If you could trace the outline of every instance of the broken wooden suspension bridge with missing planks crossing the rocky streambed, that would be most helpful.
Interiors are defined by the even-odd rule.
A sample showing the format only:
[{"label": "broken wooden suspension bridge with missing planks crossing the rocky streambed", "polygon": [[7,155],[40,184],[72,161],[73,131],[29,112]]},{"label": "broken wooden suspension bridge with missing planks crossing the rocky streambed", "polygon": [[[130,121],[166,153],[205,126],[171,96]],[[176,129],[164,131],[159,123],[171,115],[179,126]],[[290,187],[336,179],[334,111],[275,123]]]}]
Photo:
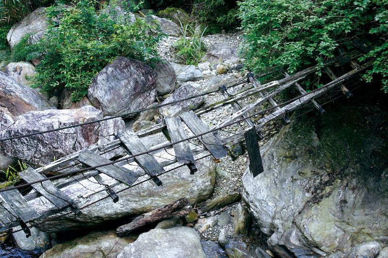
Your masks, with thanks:
[{"label": "broken wooden suspension bridge with missing planks crossing the rocky streambed", "polygon": [[[262,172],[261,160],[258,158],[260,157],[258,140],[263,137],[261,131],[264,125],[278,118],[283,119],[286,123],[290,122],[287,113],[307,103],[311,103],[319,112],[323,113],[323,108],[314,99],[333,88],[340,88],[347,97],[351,96],[352,93],[346,88],[344,82],[372,65],[372,61],[363,64],[356,63],[355,60],[361,55],[358,51],[349,53],[342,51],[339,57],[326,61],[323,70],[331,78],[331,81],[317,90],[306,92],[298,83],[306,76],[315,73],[316,67],[309,67],[293,75],[280,71],[283,78],[262,85],[253,75],[249,75],[248,82],[252,87],[235,95],[230,94],[224,85],[214,86],[225,97],[224,101],[202,107],[195,113],[187,111],[177,117],[165,117],[159,124],[136,133],[129,129],[118,134],[115,140],[104,146],[91,145],[85,150],[60,158],[44,167],[37,169],[30,167],[19,173],[20,177],[31,185],[32,191],[30,193],[23,196],[18,187],[0,190],[0,232],[20,225],[29,236],[31,233],[27,224],[33,226],[53,214],[64,211],[74,212],[75,215],[79,214],[84,208],[81,207],[80,200],[77,196],[65,194],[63,189],[80,180],[94,178],[97,185],[94,189],[90,189],[90,193],[84,194],[82,197],[105,191],[113,202],[117,202],[120,196],[114,191],[114,186],[125,184],[130,187],[142,176],[146,176],[157,185],[162,185],[158,176],[168,172],[164,167],[175,163],[187,166],[190,173],[194,174],[197,170],[194,156],[210,153],[214,159],[220,159],[228,154],[233,155],[231,146],[244,140],[250,159],[251,172],[256,176]],[[337,76],[332,68],[345,64],[349,64],[353,69]],[[300,94],[283,105],[278,105],[273,98],[291,86],[295,87]],[[212,89],[215,89],[214,87]],[[242,106],[242,100],[251,96],[257,96],[257,98],[252,103]],[[258,113],[252,115],[252,112],[265,103],[271,107],[266,110],[266,113],[259,112],[262,116],[254,122],[252,118]],[[221,123],[210,128],[200,119],[201,115],[228,105],[235,112]],[[217,131],[237,122],[245,123],[246,128],[248,128],[243,134],[234,134],[228,137],[220,137],[217,134]],[[194,136],[189,137],[188,130]],[[168,141],[152,148],[146,148],[141,138],[161,131]],[[197,138],[202,146],[191,146],[189,140],[194,138]],[[126,152],[127,156],[118,160],[106,158],[107,153],[113,152],[117,148]],[[158,160],[158,153],[168,149],[173,149],[175,155],[168,160]],[[140,167],[140,172],[124,167],[129,163]],[[50,176],[52,174],[55,176]],[[68,175],[72,176],[67,177]],[[62,178],[62,180],[54,181],[57,178]],[[31,204],[36,198],[42,197],[45,199],[45,207],[37,209]]]}]

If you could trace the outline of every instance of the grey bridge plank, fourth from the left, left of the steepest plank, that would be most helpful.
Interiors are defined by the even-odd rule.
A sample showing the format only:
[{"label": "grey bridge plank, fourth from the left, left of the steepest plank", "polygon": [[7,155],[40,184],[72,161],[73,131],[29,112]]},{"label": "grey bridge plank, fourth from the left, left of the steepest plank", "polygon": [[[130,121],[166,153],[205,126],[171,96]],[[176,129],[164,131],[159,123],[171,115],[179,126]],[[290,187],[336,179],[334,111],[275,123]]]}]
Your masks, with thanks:
[{"label": "grey bridge plank, fourth from the left, left of the steepest plank", "polygon": [[[119,134],[117,137],[120,138],[129,154],[136,155],[148,151],[140,138],[131,129]],[[162,185],[157,175],[165,171],[154,156],[148,153],[136,156],[135,159],[157,185]]]}]

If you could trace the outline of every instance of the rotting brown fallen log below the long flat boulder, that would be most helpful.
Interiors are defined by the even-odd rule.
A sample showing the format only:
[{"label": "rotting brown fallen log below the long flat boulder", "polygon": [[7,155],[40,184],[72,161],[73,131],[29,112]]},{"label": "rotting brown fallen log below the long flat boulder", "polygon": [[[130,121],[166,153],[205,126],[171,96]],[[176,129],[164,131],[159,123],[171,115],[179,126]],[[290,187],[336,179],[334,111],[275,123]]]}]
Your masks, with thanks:
[{"label": "rotting brown fallen log below the long flat boulder", "polygon": [[173,203],[167,204],[166,206],[137,216],[128,224],[118,227],[116,229],[116,234],[117,236],[122,237],[129,234],[131,231],[137,228],[141,228],[147,224],[158,222],[174,216],[185,216],[192,210],[191,206],[188,205],[189,201],[186,198],[180,198]]}]

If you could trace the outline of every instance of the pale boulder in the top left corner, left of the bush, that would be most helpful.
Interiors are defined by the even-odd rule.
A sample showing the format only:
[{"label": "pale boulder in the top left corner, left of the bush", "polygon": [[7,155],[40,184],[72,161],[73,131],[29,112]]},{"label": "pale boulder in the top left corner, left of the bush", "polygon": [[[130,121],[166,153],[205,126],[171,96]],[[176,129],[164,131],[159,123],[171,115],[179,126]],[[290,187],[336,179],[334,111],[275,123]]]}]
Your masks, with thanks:
[{"label": "pale boulder in the top left corner, left of the bush", "polygon": [[12,26],[7,34],[7,41],[12,48],[19,43],[23,37],[45,31],[48,27],[49,23],[46,17],[46,8],[40,7]]}]

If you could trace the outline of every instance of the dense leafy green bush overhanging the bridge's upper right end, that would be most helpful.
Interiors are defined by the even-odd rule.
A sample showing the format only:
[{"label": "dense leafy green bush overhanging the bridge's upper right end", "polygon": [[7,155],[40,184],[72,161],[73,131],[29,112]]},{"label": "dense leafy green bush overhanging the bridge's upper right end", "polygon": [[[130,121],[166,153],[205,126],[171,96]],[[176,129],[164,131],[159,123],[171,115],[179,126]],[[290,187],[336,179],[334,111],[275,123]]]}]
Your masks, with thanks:
[{"label": "dense leafy green bush overhanging the bridge's upper right end", "polygon": [[293,73],[322,65],[339,45],[365,37],[380,45],[366,56],[378,57],[368,78],[381,74],[388,91],[388,0],[245,0],[239,5],[244,54],[253,71],[279,65]]}]

